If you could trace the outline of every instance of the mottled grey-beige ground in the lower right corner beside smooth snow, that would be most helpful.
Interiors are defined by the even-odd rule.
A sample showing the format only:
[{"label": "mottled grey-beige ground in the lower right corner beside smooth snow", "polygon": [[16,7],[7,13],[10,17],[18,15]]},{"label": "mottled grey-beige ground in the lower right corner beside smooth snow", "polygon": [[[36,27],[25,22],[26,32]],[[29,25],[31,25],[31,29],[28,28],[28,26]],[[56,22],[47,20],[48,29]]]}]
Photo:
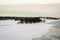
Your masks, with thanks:
[{"label": "mottled grey-beige ground in the lower right corner beside smooth snow", "polygon": [[60,40],[60,20],[54,20],[48,24],[53,25],[52,29],[47,34],[33,38],[33,40]]}]

